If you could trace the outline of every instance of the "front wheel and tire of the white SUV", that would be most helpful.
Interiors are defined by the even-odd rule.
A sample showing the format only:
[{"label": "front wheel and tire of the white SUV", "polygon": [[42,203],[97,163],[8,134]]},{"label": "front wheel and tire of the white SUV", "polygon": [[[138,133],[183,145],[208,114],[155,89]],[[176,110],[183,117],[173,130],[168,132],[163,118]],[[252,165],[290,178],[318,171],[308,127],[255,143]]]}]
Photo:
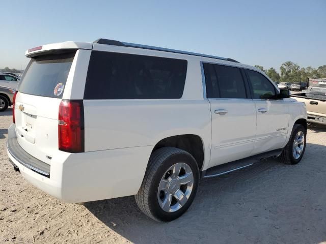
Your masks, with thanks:
[{"label": "front wheel and tire of the white SUV", "polygon": [[[303,145],[301,143],[297,144],[297,147],[299,149],[301,149],[301,154],[298,155],[297,150],[296,150],[296,154],[294,156],[294,143],[295,143],[294,140],[296,139],[298,134],[304,135],[304,138],[301,140],[304,142],[304,144]],[[298,140],[300,140],[300,137],[298,137]],[[283,148],[283,151],[279,157],[279,160],[282,163],[289,164],[289,165],[297,164],[298,162],[300,162],[302,157],[305,154],[306,140],[307,140],[307,131],[306,131],[305,127],[303,127],[302,125],[294,124],[289,142]],[[296,143],[297,143],[297,141],[296,141]]]}]

